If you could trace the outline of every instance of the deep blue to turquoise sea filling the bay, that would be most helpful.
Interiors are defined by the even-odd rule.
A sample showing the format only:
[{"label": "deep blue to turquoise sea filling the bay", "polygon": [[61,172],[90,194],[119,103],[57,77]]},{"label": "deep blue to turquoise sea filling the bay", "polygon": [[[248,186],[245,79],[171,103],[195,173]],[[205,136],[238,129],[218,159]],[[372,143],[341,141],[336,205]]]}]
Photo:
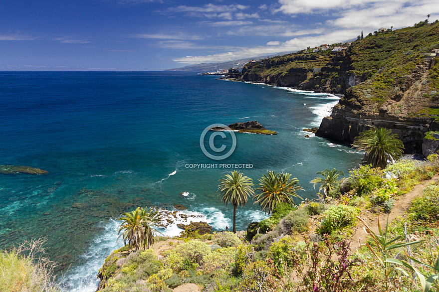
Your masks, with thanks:
[{"label": "deep blue to turquoise sea filling the bay", "polygon": [[[318,127],[337,101],[193,72],[0,72],[0,164],[49,171],[0,174],[0,249],[45,237],[50,258],[69,270],[64,289],[91,292],[104,259],[122,245],[115,232],[122,212],[181,204],[216,230],[230,227],[233,210],[217,188],[233,169],[255,183],[267,170],[289,172],[305,189],[298,194],[315,198],[309,181],[317,171],[336,167],[348,175],[361,160],[349,147],[302,131]],[[203,153],[208,126],[245,121],[278,135],[234,133],[229,157]],[[208,150],[213,133],[203,140]],[[214,144],[228,151],[231,134],[220,133],[226,138]],[[237,210],[237,229],[264,217],[249,201]]]}]

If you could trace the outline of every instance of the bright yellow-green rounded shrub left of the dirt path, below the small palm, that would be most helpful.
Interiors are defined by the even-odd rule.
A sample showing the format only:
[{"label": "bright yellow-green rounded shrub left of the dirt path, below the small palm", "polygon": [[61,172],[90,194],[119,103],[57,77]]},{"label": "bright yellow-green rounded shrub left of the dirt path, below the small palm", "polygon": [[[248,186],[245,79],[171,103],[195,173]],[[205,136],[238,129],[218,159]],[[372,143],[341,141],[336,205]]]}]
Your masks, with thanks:
[{"label": "bright yellow-green rounded shrub left of the dirt path, below the small palm", "polygon": [[329,207],[323,213],[320,233],[331,234],[334,230],[352,225],[356,220],[357,213],[357,209],[351,206],[337,205]]}]

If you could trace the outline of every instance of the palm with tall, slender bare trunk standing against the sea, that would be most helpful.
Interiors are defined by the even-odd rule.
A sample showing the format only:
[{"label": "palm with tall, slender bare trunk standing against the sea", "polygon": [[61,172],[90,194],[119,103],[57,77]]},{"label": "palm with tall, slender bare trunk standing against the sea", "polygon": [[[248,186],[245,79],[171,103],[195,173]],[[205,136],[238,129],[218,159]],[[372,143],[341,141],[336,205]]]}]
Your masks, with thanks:
[{"label": "palm with tall, slender bare trunk standing against the sea", "polygon": [[236,207],[243,207],[248,196],[254,194],[251,178],[242,176],[242,173],[234,170],[231,175],[226,174],[219,180],[218,191],[221,199],[233,206],[233,233],[236,233]]}]

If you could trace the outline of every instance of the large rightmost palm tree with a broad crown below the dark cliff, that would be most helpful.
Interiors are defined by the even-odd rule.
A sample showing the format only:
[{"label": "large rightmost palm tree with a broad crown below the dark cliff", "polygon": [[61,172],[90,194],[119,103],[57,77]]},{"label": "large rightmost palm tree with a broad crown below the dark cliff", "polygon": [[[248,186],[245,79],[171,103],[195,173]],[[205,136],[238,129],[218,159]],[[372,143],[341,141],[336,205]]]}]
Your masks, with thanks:
[{"label": "large rightmost palm tree with a broad crown below the dark cliff", "polygon": [[372,167],[386,168],[387,160],[398,160],[403,155],[404,145],[395,134],[385,128],[363,131],[354,139],[352,148],[364,151],[363,161]]}]

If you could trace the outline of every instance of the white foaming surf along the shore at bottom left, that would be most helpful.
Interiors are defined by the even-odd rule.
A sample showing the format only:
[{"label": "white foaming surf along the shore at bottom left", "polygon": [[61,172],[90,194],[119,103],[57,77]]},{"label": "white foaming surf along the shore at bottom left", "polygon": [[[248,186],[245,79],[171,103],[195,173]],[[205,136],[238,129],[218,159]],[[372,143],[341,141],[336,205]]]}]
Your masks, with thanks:
[{"label": "white foaming surf along the shore at bottom left", "polygon": [[119,222],[114,219],[105,224],[104,232],[93,239],[87,253],[81,256],[84,264],[67,272],[62,281],[62,291],[68,292],[94,292],[98,287],[99,280],[96,279],[99,269],[110,253],[123,246],[122,240],[117,241],[116,230]]}]

